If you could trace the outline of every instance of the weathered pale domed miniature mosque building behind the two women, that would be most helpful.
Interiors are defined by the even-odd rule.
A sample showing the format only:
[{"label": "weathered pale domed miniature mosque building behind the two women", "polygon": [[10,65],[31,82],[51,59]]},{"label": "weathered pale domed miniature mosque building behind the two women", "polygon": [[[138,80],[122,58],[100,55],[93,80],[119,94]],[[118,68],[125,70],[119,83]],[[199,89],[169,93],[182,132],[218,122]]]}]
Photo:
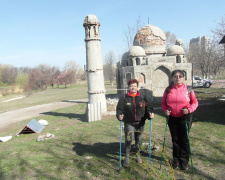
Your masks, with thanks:
[{"label": "weathered pale domed miniature mosque building behind the two women", "polygon": [[133,47],[117,63],[118,94],[125,94],[130,79],[139,81],[140,91],[153,100],[160,100],[165,88],[171,82],[171,72],[181,69],[184,83],[192,86],[192,64],[187,63],[183,42],[176,41],[166,52],[166,36],[153,25],[141,28],[133,42]]}]

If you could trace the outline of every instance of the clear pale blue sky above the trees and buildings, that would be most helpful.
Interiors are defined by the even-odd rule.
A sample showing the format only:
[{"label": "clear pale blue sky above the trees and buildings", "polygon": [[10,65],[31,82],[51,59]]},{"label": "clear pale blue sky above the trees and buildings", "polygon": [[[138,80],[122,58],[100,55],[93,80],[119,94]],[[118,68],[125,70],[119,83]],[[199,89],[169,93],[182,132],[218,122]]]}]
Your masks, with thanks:
[{"label": "clear pale blue sky above the trees and buildings", "polygon": [[0,0],[0,64],[62,68],[66,61],[86,64],[84,18],[101,24],[102,58],[125,52],[124,31],[136,24],[170,31],[184,43],[212,36],[225,17],[225,0]]}]

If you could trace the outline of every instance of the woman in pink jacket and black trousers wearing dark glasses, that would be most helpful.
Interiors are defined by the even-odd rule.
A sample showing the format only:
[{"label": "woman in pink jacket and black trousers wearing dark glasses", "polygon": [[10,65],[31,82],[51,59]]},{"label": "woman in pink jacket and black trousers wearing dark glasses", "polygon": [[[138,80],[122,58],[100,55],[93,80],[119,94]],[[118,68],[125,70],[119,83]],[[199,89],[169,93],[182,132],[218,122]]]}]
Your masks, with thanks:
[{"label": "woman in pink jacket and black trousers wearing dark glasses", "polygon": [[162,110],[168,118],[168,126],[173,143],[174,169],[188,169],[189,147],[185,119],[190,130],[191,113],[198,107],[198,101],[194,91],[188,92],[183,84],[184,73],[181,70],[174,70],[171,74],[172,82],[165,89],[162,98]]}]

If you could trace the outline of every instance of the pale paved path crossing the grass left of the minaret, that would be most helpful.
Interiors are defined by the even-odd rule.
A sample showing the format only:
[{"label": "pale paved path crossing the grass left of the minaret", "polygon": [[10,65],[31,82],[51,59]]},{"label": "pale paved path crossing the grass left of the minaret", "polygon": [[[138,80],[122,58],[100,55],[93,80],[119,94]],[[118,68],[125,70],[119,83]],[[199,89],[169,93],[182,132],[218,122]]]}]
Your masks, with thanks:
[{"label": "pale paved path crossing the grass left of the minaret", "polygon": [[0,133],[2,128],[10,124],[40,116],[41,113],[44,112],[74,106],[77,103],[84,103],[84,102],[88,102],[88,99],[77,99],[77,100],[42,104],[2,113],[0,114]]}]

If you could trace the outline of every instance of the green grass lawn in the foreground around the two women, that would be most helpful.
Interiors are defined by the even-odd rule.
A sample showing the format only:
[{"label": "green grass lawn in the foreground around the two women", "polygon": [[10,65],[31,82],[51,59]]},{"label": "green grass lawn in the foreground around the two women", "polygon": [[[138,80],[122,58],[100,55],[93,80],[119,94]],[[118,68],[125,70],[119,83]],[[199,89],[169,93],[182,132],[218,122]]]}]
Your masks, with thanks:
[{"label": "green grass lawn in the foreground around the two women", "polygon": [[[77,91],[73,89],[72,92]],[[223,92],[224,89],[221,93]],[[200,94],[202,92],[196,93],[197,97]],[[70,99],[76,99],[75,97],[76,93],[74,98]],[[208,97],[210,98],[211,96]],[[88,123],[85,115],[86,104],[79,103],[35,118],[49,122],[40,134],[52,133],[55,138],[37,142],[36,139],[40,134],[15,136],[30,119],[5,130],[1,136],[13,135],[13,138],[0,144],[0,179],[223,179],[224,109],[225,102],[216,102],[212,105],[199,106],[194,113],[197,120],[193,122],[190,132],[194,174],[191,171],[173,171],[165,160],[159,169],[161,151],[152,152],[149,169],[148,150],[141,153],[143,164],[137,164],[135,155],[132,154],[130,168],[118,172],[119,121],[114,115],[107,115],[101,121]],[[149,121],[146,121],[143,143],[149,142],[149,125]],[[156,111],[152,121],[152,143],[159,145],[160,148],[163,144],[164,131],[165,117],[161,111]],[[172,158],[171,148],[168,130],[164,154],[166,160]]]}]

